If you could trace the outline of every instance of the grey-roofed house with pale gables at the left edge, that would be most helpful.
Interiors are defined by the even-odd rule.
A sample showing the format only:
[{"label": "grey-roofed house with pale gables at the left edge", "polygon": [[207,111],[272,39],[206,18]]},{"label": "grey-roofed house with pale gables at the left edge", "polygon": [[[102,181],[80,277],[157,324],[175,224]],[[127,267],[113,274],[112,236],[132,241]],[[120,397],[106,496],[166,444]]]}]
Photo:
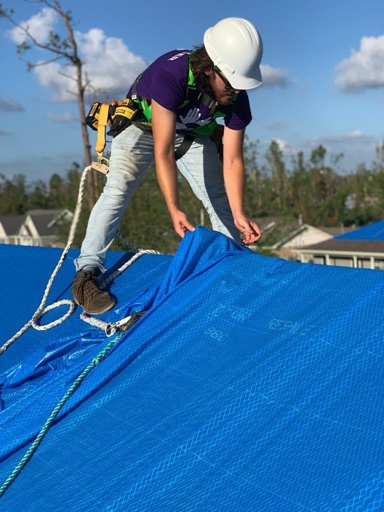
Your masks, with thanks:
[{"label": "grey-roofed house with pale gables at the left edge", "polygon": [[25,215],[2,216],[0,217],[0,243],[55,246],[63,221],[68,222],[72,218],[73,213],[66,208],[29,210]]}]

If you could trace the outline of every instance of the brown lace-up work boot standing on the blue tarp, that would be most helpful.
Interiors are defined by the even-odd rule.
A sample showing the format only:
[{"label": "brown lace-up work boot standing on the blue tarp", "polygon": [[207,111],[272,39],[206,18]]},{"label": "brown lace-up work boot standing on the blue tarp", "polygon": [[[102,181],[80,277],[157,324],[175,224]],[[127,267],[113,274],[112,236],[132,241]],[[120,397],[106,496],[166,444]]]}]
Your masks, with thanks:
[{"label": "brown lace-up work boot standing on the blue tarp", "polygon": [[116,304],[116,300],[108,291],[99,289],[96,271],[97,269],[79,270],[72,283],[73,300],[91,315],[105,313]]}]

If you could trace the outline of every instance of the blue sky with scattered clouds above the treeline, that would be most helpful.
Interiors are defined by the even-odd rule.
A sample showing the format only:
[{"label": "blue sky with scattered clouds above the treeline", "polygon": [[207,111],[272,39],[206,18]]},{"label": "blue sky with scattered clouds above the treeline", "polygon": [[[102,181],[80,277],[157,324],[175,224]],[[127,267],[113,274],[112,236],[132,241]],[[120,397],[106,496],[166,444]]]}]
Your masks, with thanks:
[{"label": "blue sky with scattered clouds above the treeline", "polygon": [[[222,18],[249,19],[264,43],[263,84],[249,93],[253,120],[247,128],[248,136],[260,141],[260,163],[274,138],[288,165],[292,154],[303,150],[309,157],[323,144],[329,162],[332,155],[345,154],[339,171],[350,172],[359,162],[370,165],[375,146],[384,140],[382,0],[148,0],[143,9],[119,0],[61,4],[77,22],[81,56],[93,83],[116,99],[162,53],[201,44],[204,31]],[[5,0],[3,5],[12,6],[18,21],[30,20],[31,30],[42,40],[50,28],[61,31],[52,15],[41,11],[42,4]],[[16,55],[18,36],[11,28],[0,20],[5,70],[0,87],[1,172],[24,173],[30,181],[47,179],[65,172],[73,160],[82,164],[77,105],[67,92],[71,82],[58,74],[71,70],[54,63],[27,72]],[[33,49],[28,58],[36,62],[51,56]]]}]

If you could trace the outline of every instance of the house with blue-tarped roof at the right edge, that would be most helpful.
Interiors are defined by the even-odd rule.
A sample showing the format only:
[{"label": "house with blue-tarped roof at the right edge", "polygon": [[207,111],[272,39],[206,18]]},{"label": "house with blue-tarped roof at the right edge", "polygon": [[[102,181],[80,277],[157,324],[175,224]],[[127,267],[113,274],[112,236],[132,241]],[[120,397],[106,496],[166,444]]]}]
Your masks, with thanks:
[{"label": "house with blue-tarped roof at the right edge", "polygon": [[384,270],[384,220],[303,246],[296,254],[303,263]]}]

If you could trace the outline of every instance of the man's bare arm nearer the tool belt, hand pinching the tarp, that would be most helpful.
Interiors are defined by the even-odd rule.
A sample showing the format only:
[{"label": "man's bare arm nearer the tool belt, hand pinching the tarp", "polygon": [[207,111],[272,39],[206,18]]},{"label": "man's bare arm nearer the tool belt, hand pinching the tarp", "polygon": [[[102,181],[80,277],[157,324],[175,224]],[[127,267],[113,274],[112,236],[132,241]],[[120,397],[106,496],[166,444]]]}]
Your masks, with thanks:
[{"label": "man's bare arm nearer the tool belt, hand pinching the tarp", "polygon": [[180,209],[175,162],[176,113],[152,100],[152,131],[156,174],[175,231],[183,237],[195,228]]}]

